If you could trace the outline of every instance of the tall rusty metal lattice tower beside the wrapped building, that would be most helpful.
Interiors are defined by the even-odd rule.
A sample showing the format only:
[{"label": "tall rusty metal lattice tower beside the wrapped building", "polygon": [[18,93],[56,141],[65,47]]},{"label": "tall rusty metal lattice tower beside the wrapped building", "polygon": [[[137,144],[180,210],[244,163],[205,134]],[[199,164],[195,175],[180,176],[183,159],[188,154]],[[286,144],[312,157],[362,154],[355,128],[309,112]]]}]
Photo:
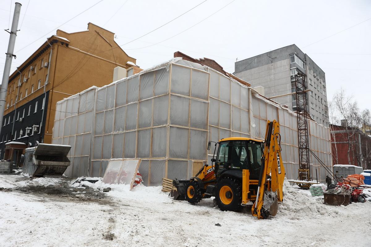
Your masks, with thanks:
[{"label": "tall rusty metal lattice tower beside the wrapped building", "polygon": [[[309,137],[308,137],[308,109],[306,98],[305,74],[295,75],[296,113],[298,114],[298,141],[299,141],[299,180],[310,181],[309,170]],[[309,188],[309,183],[298,183],[302,188]]]}]

